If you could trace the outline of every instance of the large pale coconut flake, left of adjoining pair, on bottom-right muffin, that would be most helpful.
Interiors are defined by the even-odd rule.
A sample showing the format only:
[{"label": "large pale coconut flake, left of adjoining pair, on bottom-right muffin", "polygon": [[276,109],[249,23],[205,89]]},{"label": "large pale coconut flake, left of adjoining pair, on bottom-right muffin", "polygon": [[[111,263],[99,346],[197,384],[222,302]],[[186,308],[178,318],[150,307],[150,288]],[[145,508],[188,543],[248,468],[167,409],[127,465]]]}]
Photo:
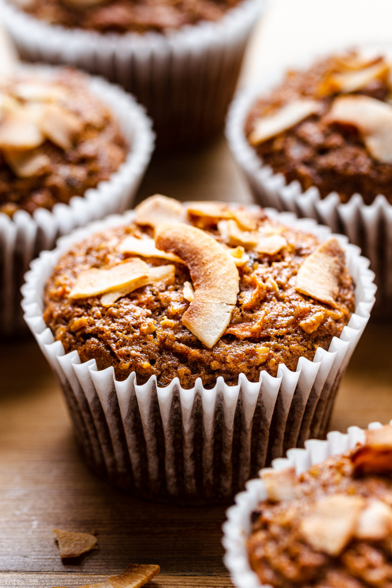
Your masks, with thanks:
[{"label": "large pale coconut flake, left of adjoining pair, on bottom-right muffin", "polygon": [[317,500],[313,512],[300,523],[304,539],[316,551],[338,556],[356,531],[364,499],[334,494]]}]

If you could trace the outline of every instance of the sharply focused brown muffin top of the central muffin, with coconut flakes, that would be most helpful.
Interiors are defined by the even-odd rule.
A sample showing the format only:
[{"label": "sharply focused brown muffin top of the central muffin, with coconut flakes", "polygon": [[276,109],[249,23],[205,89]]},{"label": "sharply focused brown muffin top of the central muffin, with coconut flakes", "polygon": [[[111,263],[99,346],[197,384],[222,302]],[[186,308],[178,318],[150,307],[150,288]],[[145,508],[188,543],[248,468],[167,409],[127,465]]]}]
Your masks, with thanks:
[{"label": "sharply focused brown muffin top of the central muffin, with coconut flakes", "polygon": [[66,352],[118,379],[156,375],[236,384],[328,349],[354,310],[339,242],[223,202],[156,195],[135,222],[88,236],[62,256],[44,319]]}]

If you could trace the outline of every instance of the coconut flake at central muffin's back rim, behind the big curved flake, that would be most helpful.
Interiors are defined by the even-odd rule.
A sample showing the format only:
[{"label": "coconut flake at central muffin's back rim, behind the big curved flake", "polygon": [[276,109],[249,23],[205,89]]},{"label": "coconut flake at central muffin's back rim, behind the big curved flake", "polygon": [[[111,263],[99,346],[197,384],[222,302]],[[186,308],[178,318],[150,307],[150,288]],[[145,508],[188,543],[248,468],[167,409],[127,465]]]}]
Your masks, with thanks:
[{"label": "coconut flake at central muffin's back rim, behind the big curved flake", "polygon": [[163,222],[184,222],[185,220],[185,208],[182,203],[162,194],[155,194],[143,200],[136,206],[135,211],[135,222],[138,225],[155,227]]}]

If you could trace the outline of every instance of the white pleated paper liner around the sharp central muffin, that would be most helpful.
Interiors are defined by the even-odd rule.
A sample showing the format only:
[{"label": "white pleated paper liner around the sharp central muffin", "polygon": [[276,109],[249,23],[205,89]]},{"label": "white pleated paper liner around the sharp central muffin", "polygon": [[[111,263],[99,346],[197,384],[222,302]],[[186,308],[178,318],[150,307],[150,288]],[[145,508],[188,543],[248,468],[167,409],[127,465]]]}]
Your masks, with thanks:
[{"label": "white pleated paper liner around the sharp central muffin", "polygon": [[[313,220],[267,213],[321,240],[330,235]],[[329,350],[317,349],[313,362],[300,358],[296,372],[280,365],[277,377],[263,371],[257,383],[241,374],[236,386],[219,377],[210,390],[200,379],[190,390],[177,378],[166,387],[159,387],[155,376],[138,385],[135,373],[119,382],[113,368],[98,370],[95,360],[81,363],[78,352],[65,353],[43,321],[42,296],[59,256],[73,243],[132,218],[132,211],[111,216],[41,253],[22,288],[25,320],[58,376],[79,444],[95,469],[123,489],[152,499],[230,499],[271,459],[302,445],[309,435],[324,435],[337,386],[374,303],[374,274],[360,250],[337,236],[356,283],[356,312]]]}]

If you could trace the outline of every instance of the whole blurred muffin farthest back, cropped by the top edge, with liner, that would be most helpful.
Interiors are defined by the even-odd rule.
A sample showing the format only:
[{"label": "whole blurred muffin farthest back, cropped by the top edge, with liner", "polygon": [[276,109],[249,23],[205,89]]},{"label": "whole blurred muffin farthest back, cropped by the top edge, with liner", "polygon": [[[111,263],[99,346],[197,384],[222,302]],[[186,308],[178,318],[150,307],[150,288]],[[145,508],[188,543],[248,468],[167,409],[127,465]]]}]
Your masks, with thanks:
[{"label": "whole blurred muffin farthest back, cropped by the top edge, with liner", "polygon": [[219,131],[264,0],[4,0],[22,58],[71,64],[120,83],[146,106],[159,145]]}]

